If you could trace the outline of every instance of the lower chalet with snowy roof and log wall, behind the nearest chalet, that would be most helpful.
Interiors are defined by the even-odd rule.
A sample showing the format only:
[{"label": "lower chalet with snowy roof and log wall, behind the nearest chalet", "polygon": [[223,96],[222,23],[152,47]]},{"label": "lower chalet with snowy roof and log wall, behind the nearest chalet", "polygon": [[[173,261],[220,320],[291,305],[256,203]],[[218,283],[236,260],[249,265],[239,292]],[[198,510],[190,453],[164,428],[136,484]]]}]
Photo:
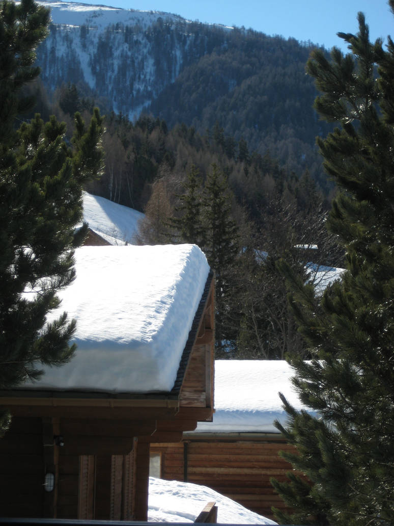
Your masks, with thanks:
[{"label": "lower chalet with snowy roof and log wall, behind the nearest chalet", "polygon": [[271,507],[286,507],[269,479],[287,480],[292,470],[278,452],[294,448],[273,426],[274,419],[285,421],[277,392],[292,400],[290,376],[283,361],[216,360],[213,421],[185,433],[182,442],[154,444],[161,478],[206,485],[274,519]]}]

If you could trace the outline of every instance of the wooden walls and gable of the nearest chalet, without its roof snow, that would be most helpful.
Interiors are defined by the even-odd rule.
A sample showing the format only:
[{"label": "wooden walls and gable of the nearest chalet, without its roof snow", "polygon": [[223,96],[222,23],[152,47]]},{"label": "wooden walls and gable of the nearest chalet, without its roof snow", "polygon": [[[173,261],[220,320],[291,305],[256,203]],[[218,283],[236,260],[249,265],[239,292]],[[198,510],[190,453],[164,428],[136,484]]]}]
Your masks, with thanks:
[{"label": "wooden walls and gable of the nearest chalet, without its roof snow", "polygon": [[[102,261],[103,249],[129,248],[90,250],[101,251],[97,261]],[[133,250],[137,248],[144,247]],[[160,251],[156,257],[162,265]],[[61,388],[38,382],[0,392],[1,408],[13,414],[12,426],[0,440],[3,517],[147,520],[152,448],[181,443],[184,431],[212,420],[214,278],[209,269],[203,279],[171,389],[73,387],[73,359],[65,366],[69,378]],[[97,294],[91,301],[97,301]],[[62,307],[67,310],[67,302]],[[109,324],[116,315],[108,311]],[[132,317],[131,312],[128,320]],[[44,379],[50,374],[46,369]]]}]

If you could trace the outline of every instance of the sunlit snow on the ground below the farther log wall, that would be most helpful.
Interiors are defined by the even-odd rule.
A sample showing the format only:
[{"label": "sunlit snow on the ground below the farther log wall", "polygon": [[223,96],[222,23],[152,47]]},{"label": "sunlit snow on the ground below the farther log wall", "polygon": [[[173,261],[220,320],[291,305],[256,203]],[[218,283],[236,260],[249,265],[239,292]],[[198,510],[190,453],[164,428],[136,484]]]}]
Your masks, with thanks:
[{"label": "sunlit snow on the ground below the farther log wall", "polygon": [[208,502],[216,502],[218,523],[276,524],[206,486],[149,478],[148,521],[194,522]]}]

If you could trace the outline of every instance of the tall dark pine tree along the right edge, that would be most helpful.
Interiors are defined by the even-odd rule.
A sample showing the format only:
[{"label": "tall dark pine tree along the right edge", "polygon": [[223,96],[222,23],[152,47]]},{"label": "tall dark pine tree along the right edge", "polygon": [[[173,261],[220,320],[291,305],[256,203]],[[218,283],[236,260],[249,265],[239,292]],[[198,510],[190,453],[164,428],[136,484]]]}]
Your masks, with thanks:
[{"label": "tall dark pine tree along the right edge", "polygon": [[[390,0],[394,13],[394,0]],[[394,43],[339,33],[351,54],[315,51],[307,69],[322,92],[316,108],[336,128],[317,140],[340,189],[329,229],[346,249],[341,282],[316,303],[292,279],[291,302],[315,359],[293,359],[294,384],[312,412],[282,397],[297,454],[283,454],[305,479],[273,481],[293,515],[284,523],[379,525],[394,518]],[[376,68],[379,77],[376,78]]]}]

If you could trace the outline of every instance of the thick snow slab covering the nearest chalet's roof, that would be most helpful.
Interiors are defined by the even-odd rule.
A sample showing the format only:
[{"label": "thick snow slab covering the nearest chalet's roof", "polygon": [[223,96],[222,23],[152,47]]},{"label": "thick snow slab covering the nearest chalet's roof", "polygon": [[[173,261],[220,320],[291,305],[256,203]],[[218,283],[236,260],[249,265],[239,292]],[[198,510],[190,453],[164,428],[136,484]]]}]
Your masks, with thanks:
[{"label": "thick snow slab covering the nearest chalet's roof", "polygon": [[195,245],[76,250],[75,281],[60,308],[76,318],[74,358],[44,367],[29,389],[169,392],[198,309],[209,265]]}]

